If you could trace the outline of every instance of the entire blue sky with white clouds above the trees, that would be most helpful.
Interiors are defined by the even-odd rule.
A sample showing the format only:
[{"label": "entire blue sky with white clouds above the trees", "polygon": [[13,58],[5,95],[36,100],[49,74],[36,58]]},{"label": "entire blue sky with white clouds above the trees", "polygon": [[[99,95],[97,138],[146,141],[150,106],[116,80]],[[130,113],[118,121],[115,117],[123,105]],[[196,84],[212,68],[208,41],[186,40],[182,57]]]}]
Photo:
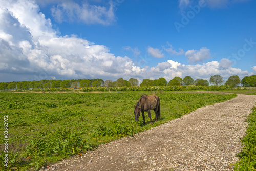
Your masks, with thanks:
[{"label": "entire blue sky with white clouds above the trees", "polygon": [[0,82],[256,74],[253,0],[0,0]]}]

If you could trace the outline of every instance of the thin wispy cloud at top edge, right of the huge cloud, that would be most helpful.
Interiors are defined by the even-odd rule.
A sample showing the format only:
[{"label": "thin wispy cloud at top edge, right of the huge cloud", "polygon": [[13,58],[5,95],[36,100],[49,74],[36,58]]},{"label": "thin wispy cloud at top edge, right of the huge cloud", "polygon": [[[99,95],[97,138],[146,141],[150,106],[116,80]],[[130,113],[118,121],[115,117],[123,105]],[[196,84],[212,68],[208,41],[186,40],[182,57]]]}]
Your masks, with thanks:
[{"label": "thin wispy cloud at top edge, right of the huge cloud", "polygon": [[111,1],[109,7],[91,5],[88,2],[79,5],[73,1],[65,1],[53,7],[51,12],[59,23],[78,21],[86,24],[109,25],[116,20],[115,7]]}]

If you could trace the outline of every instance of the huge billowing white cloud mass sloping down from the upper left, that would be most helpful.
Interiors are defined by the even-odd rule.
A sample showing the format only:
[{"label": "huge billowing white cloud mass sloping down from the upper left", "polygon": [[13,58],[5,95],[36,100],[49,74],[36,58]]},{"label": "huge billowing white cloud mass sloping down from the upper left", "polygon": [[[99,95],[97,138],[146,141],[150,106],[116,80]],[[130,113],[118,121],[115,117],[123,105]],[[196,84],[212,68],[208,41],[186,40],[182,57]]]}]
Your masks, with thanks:
[{"label": "huge billowing white cloud mass sloping down from the upper left", "polygon": [[[3,3],[1,6],[5,6],[0,9],[1,79],[7,78],[8,74],[25,74],[25,79],[30,77],[29,80],[110,79],[135,77],[143,72],[143,68],[135,66],[130,58],[115,56],[104,45],[95,45],[74,35],[58,36],[51,21],[32,1]],[[34,27],[29,20],[39,26]]]}]

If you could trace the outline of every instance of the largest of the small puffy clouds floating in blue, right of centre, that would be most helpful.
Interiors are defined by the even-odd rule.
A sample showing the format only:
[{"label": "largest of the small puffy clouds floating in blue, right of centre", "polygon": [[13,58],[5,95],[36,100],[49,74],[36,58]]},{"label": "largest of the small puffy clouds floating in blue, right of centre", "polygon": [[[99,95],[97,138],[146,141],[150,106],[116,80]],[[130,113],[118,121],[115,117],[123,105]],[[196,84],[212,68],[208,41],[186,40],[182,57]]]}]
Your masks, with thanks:
[{"label": "largest of the small puffy clouds floating in blue, right of centre", "polygon": [[203,62],[210,58],[210,50],[206,47],[202,47],[200,50],[188,50],[185,56],[191,63]]}]

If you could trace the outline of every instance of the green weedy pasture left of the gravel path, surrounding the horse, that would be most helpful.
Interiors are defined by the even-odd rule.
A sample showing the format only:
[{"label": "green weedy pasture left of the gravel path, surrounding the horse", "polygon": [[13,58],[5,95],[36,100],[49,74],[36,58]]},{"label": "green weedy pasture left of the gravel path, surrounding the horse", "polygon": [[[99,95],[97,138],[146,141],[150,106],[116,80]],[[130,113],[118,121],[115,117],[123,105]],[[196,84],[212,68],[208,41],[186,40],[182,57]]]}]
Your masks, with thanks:
[{"label": "green weedy pasture left of the gravel path, surrounding the horse", "polygon": [[[150,125],[135,122],[133,106],[142,94],[160,97],[161,117]],[[121,92],[12,93],[0,92],[0,112],[8,116],[8,168],[39,169],[102,143],[151,129],[197,108],[236,97],[235,94]],[[152,119],[155,118],[152,111]],[[4,122],[0,126],[1,169],[5,169]]]}]

